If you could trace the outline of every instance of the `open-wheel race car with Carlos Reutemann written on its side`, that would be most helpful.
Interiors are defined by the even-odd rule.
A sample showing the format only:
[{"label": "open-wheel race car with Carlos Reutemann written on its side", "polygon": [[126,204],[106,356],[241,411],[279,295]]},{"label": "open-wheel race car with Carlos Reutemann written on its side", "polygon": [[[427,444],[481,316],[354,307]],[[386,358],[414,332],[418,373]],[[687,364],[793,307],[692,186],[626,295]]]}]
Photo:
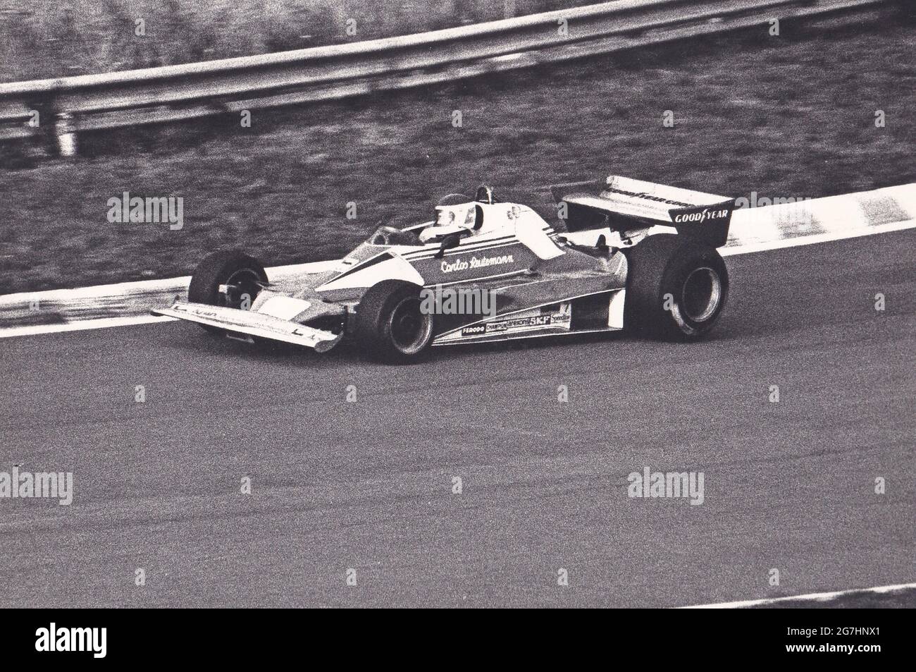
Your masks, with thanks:
[{"label": "open-wheel race car with Carlos Reutemann written on its side", "polygon": [[551,193],[564,231],[481,187],[443,198],[431,222],[378,227],[332,270],[283,288],[244,252],[214,252],[188,303],[151,313],[318,352],[353,339],[391,362],[431,346],[623,328],[692,340],[713,327],[734,199],[616,176]]}]

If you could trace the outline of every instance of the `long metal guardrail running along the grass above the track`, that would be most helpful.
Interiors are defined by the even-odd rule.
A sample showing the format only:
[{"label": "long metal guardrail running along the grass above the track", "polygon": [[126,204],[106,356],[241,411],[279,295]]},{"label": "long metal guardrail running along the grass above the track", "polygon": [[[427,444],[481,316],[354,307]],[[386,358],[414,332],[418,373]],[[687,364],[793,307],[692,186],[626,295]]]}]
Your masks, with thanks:
[{"label": "long metal guardrail running along the grass above the track", "polygon": [[[0,84],[0,141],[53,118],[77,133],[449,82],[889,0],[616,0],[398,38],[125,72]],[[35,113],[38,112],[38,124]]]}]

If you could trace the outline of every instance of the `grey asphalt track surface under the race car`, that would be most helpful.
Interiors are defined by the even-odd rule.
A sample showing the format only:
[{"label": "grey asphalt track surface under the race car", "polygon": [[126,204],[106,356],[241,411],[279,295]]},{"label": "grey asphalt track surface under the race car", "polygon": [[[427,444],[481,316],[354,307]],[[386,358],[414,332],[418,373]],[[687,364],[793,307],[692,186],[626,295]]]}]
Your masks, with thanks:
[{"label": "grey asphalt track surface under the race car", "polygon": [[[71,470],[75,492],[0,500],[0,606],[678,606],[912,581],[916,232],[726,263],[729,307],[694,345],[398,368],[179,323],[4,339],[0,470]],[[703,471],[703,504],[628,498],[644,466]]]}]

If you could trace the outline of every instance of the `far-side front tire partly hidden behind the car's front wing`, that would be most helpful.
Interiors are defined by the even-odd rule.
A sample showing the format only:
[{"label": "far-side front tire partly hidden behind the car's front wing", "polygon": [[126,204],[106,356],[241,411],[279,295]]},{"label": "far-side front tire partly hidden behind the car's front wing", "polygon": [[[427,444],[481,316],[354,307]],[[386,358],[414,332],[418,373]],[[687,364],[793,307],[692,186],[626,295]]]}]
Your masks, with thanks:
[{"label": "far-side front tire partly hidden behind the car's front wing", "polygon": [[[213,252],[203,258],[188,287],[188,301],[206,303],[226,308],[247,310],[267,282],[267,273],[254,257],[237,249]],[[227,292],[220,292],[221,286]],[[201,325],[212,334],[222,334],[223,329]]]}]

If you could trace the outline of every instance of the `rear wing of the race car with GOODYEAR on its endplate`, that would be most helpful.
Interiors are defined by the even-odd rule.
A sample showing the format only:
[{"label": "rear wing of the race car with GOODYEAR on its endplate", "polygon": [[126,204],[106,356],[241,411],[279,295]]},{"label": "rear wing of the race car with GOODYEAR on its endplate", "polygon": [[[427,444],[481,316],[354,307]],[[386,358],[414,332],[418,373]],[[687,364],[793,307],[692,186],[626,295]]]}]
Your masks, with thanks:
[{"label": "rear wing of the race car with GOODYEAR on its endplate", "polygon": [[609,226],[627,231],[648,226],[672,226],[683,236],[720,248],[728,237],[735,199],[693,192],[617,175],[605,181],[551,186],[558,204],[566,204],[570,232]]}]

